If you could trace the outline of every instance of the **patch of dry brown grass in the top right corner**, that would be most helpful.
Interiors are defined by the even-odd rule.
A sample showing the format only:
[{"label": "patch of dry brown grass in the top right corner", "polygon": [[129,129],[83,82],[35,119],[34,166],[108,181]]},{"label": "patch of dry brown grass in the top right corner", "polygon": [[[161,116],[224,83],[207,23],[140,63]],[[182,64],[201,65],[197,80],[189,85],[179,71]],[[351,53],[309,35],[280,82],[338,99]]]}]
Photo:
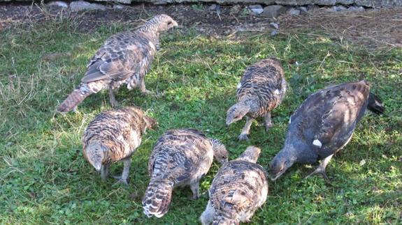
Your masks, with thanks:
[{"label": "patch of dry brown grass in the top right corner", "polygon": [[282,30],[324,31],[340,42],[368,50],[402,47],[402,9],[333,13],[318,10],[305,16],[282,17]]}]

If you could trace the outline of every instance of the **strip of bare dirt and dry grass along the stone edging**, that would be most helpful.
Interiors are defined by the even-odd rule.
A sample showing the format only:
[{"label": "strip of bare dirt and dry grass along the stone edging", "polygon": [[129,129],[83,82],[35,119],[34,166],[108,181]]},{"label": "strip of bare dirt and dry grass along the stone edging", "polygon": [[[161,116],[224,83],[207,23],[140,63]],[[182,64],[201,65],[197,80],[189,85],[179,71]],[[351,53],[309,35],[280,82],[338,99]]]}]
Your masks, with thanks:
[{"label": "strip of bare dirt and dry grass along the stone edging", "polygon": [[[112,6],[110,6],[112,7]],[[0,27],[29,25],[48,20],[69,18],[78,23],[82,32],[96,27],[120,22],[134,28],[157,14],[171,15],[182,29],[195,29],[208,36],[236,36],[245,31],[272,32],[272,18],[252,15],[245,6],[220,6],[209,10],[208,5],[176,4],[168,6],[137,5],[120,9],[71,13],[57,6],[0,5]],[[331,38],[364,46],[368,49],[402,47],[402,9],[366,10],[363,13],[334,13],[315,10],[303,15],[282,15],[275,20],[278,33],[311,33],[323,31]]]}]

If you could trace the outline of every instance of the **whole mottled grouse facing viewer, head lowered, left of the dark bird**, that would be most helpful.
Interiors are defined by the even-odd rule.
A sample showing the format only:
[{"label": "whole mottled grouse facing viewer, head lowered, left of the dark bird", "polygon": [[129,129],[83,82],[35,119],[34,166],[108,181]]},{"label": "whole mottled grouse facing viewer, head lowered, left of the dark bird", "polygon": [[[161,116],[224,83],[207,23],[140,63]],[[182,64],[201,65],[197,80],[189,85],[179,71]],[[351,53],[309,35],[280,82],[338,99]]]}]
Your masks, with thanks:
[{"label": "whole mottled grouse facing viewer, head lowered, left of the dark bird", "polygon": [[266,130],[272,127],[271,111],[285,98],[286,86],[282,66],[276,59],[264,59],[245,70],[237,86],[237,103],[227,111],[226,118],[230,125],[246,116],[238,139],[248,139],[255,118],[264,117]]}]

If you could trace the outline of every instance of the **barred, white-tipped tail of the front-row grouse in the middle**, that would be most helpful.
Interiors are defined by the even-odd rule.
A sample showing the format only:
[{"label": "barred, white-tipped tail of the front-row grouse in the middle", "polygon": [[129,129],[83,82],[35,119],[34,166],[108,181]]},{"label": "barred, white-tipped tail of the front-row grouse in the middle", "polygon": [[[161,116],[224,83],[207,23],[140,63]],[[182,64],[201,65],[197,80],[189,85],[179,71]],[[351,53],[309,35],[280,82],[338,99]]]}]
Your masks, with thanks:
[{"label": "barred, white-tipped tail of the front-row grouse in the middle", "polygon": [[173,182],[157,180],[150,182],[143,198],[144,214],[148,217],[163,217],[168,212],[173,192]]}]

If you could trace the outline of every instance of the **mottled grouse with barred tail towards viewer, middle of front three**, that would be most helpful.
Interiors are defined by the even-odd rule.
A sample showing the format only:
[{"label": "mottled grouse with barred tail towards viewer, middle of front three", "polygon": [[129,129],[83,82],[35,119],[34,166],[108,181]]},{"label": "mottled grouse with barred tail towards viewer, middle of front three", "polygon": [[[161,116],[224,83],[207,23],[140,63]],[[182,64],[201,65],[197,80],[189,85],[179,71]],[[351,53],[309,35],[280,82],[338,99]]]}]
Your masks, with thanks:
[{"label": "mottled grouse with barred tail towards viewer, middle of front three", "polygon": [[145,215],[163,217],[168,212],[173,187],[189,185],[193,199],[197,199],[199,180],[208,172],[214,158],[227,162],[226,148],[198,130],[168,130],[163,134],[148,164],[151,180],[143,198]]}]

